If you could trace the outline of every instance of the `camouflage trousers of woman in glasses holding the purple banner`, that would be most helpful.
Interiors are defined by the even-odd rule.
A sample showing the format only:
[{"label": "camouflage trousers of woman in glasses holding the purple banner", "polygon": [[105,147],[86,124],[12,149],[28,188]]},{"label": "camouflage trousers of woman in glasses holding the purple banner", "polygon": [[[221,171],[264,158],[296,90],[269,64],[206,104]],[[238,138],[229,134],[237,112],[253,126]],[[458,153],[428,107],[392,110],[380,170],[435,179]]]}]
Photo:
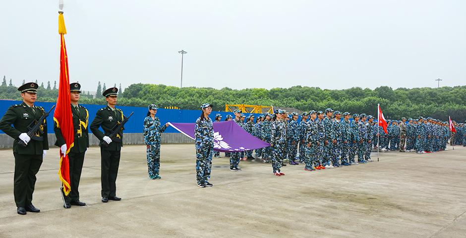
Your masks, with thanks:
[{"label": "camouflage trousers of woman in glasses holding the purple banner", "polygon": [[212,155],[214,145],[196,148],[196,180],[197,184],[203,184],[210,178],[212,170]]}]

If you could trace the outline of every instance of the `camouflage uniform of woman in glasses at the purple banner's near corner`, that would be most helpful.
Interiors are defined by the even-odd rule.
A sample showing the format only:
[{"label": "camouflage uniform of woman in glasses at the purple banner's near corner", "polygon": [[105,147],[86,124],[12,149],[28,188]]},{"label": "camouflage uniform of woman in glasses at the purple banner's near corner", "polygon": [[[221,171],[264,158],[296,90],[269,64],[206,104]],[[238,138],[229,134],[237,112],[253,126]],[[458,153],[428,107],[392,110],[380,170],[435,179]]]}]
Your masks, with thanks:
[{"label": "camouflage uniform of woman in glasses at the purple banner's near corner", "polygon": [[198,118],[194,125],[196,138],[196,179],[197,184],[206,184],[212,169],[214,154],[214,126],[210,118]]}]

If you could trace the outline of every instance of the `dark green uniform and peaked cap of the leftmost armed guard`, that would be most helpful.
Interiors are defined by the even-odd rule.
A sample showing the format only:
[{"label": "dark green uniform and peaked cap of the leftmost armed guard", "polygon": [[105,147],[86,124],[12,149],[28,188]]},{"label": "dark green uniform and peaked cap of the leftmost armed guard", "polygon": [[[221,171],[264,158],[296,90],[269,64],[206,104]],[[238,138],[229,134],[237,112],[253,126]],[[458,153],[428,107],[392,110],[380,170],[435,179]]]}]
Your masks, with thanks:
[{"label": "dark green uniform and peaked cap of the leftmost armed guard", "polygon": [[[18,88],[21,93],[37,93],[36,83],[26,83]],[[44,150],[49,149],[47,139],[47,121],[44,119],[40,129],[25,148],[18,145],[19,135],[29,131],[45,111],[42,107],[29,107],[26,103],[13,105],[8,108],[0,120],[0,129],[14,138],[14,201],[18,208],[32,205],[32,194],[36,183],[36,174],[42,165]],[[34,123],[32,123],[34,122]],[[18,212],[19,213],[19,212]],[[25,213],[24,213],[25,214]]]}]

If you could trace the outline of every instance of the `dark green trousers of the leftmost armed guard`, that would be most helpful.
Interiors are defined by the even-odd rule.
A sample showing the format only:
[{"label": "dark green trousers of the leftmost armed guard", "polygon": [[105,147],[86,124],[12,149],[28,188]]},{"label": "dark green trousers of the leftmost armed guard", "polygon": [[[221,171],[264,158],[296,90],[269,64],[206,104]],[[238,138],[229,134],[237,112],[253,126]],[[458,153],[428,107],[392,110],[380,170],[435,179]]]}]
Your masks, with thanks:
[{"label": "dark green trousers of the leftmost armed guard", "polygon": [[42,155],[14,155],[14,202],[17,207],[32,203],[36,174],[42,165]]}]

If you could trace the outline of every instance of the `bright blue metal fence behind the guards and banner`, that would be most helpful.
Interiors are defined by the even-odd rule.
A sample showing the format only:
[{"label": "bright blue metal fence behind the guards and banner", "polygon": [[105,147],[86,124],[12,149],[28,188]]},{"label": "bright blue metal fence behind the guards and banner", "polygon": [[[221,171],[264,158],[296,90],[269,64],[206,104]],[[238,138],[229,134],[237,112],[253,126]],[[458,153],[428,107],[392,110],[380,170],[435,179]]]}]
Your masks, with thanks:
[{"label": "bright blue metal fence behind the guards and banner", "polygon": [[[6,110],[12,105],[15,104],[21,104],[21,101],[12,101],[12,100],[0,100],[0,116],[2,116]],[[41,106],[43,107],[46,111],[49,111],[50,108],[55,105],[55,103],[49,103],[49,102],[36,102],[36,106]],[[86,105],[82,104],[88,111],[89,111],[89,124],[92,122],[94,119],[97,111],[101,109],[102,105]],[[134,112],[133,116],[128,120],[128,122],[124,125],[125,133],[142,133],[143,130],[143,121],[144,118],[146,118],[148,109],[141,108],[141,107],[125,107],[125,106],[118,106],[117,108],[123,110],[124,115],[129,115],[131,112]],[[211,119],[215,119],[215,115],[217,113],[220,113],[222,115],[222,119],[225,119],[225,117],[230,114],[233,116],[233,113],[226,113],[226,112],[217,112],[213,111],[211,116]],[[53,116],[54,111],[52,111],[47,118],[47,126],[48,126],[48,133],[54,133],[54,120]],[[247,114],[246,116],[248,116]],[[157,110],[157,115],[160,119],[160,122],[162,124],[165,124],[166,122],[195,122],[197,118],[201,116],[201,110],[175,110],[175,109],[163,109],[160,108]],[[258,114],[255,114],[257,117]],[[91,132],[91,131],[89,131]],[[177,130],[172,128],[171,126],[167,128],[165,132],[169,133],[179,133]],[[0,133],[4,133],[3,131],[0,130]]]}]

